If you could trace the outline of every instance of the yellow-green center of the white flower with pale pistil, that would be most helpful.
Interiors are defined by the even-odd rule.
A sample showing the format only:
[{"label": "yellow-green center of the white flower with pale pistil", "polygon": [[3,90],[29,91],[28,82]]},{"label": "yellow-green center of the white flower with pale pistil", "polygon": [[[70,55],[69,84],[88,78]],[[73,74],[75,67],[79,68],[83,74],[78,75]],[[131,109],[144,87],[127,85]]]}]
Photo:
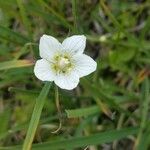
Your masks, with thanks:
[{"label": "yellow-green center of the white flower with pale pistil", "polygon": [[69,73],[73,65],[69,56],[59,54],[54,56],[52,68],[56,73]]}]

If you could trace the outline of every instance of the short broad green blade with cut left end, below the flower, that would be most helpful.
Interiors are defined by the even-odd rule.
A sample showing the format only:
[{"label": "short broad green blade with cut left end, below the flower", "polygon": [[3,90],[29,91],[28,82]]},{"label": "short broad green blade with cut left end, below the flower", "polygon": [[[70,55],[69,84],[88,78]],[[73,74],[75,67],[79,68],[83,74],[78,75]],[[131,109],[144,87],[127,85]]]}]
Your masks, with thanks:
[{"label": "short broad green blade with cut left end, below the flower", "polygon": [[80,109],[72,109],[72,110],[66,110],[68,118],[77,118],[77,117],[83,117],[83,116],[89,116],[95,113],[99,113],[100,108],[98,106],[91,106],[88,108],[80,108]]}]

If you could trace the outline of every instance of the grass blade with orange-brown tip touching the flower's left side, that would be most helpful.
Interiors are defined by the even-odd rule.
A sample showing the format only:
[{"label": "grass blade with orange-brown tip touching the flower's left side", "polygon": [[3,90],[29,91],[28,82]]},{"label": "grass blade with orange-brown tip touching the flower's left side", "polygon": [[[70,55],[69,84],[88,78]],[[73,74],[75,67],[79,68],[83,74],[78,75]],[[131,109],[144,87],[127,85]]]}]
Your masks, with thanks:
[{"label": "grass blade with orange-brown tip touching the flower's left side", "polygon": [[12,69],[12,68],[20,68],[20,67],[28,67],[32,66],[33,62],[30,60],[11,60],[0,63],[0,70]]}]

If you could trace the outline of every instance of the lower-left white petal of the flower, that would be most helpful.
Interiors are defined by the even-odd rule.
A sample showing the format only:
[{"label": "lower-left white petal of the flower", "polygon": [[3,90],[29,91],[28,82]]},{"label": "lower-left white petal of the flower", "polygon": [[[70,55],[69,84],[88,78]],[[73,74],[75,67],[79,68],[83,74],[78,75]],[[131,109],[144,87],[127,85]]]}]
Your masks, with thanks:
[{"label": "lower-left white petal of the flower", "polygon": [[51,64],[45,60],[37,60],[34,66],[35,76],[42,81],[54,81],[55,74],[51,70]]}]

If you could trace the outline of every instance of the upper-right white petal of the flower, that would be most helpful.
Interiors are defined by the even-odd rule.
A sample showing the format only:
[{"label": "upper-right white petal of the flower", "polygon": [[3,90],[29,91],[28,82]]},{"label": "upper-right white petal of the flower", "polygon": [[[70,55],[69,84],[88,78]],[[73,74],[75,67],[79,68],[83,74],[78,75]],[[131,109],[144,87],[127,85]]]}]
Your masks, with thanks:
[{"label": "upper-right white petal of the flower", "polygon": [[62,43],[62,49],[71,54],[82,54],[86,46],[84,35],[74,35],[66,38]]}]

